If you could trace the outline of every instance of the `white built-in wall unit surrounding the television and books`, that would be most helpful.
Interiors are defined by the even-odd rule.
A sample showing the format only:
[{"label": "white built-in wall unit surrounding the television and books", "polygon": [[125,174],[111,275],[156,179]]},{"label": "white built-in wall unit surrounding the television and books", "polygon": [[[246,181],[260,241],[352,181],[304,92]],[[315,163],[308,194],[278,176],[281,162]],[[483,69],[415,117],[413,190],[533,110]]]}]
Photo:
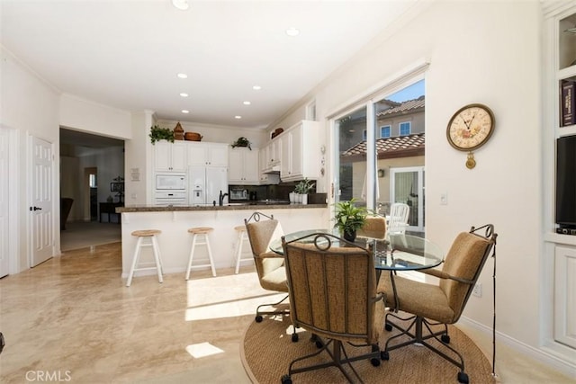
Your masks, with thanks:
[{"label": "white built-in wall unit surrounding the television and books", "polygon": [[[555,233],[554,174],[555,140],[576,135],[576,125],[563,124],[560,94],[563,80],[576,80],[576,34],[566,31],[576,26],[576,1],[544,1],[545,85],[543,141],[545,142],[545,255],[543,270],[545,319],[554,324],[550,345],[563,352],[565,346],[576,348],[576,237]],[[553,129],[551,129],[553,128]],[[554,295],[554,300],[550,300]],[[548,335],[545,335],[546,337]]]}]

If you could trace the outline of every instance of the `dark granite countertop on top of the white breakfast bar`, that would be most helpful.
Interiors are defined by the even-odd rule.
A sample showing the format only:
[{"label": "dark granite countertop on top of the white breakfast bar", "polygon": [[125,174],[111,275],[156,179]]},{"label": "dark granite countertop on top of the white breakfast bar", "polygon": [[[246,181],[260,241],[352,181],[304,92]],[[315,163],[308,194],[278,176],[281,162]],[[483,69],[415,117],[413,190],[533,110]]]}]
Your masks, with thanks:
[{"label": "dark granite countertop on top of the white breakfast bar", "polygon": [[157,206],[157,205],[128,205],[125,207],[116,207],[116,213],[122,212],[173,212],[182,210],[301,210],[310,208],[327,208],[328,204],[275,204],[267,203],[231,203],[224,204],[221,207],[216,205],[209,206]]}]

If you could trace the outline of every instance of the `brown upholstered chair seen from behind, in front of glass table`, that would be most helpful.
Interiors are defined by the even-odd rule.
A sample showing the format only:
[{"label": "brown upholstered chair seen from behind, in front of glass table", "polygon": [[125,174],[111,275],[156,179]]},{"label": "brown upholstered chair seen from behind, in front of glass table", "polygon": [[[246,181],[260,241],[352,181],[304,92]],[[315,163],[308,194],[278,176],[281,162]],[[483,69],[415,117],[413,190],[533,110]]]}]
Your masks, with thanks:
[{"label": "brown upholstered chair seen from behind, in front of glass table", "polygon": [[[362,381],[350,362],[370,360],[378,366],[383,358],[378,339],[385,308],[383,294],[376,291],[372,252],[325,233],[289,242],[282,237],[282,243],[293,326],[311,332],[320,347],[291,362],[282,382],[292,383],[295,373],[327,367],[338,367],[353,382],[344,364]],[[370,352],[348,357],[344,344],[366,346]],[[329,362],[302,367],[301,362],[322,352],[329,354]]]}]

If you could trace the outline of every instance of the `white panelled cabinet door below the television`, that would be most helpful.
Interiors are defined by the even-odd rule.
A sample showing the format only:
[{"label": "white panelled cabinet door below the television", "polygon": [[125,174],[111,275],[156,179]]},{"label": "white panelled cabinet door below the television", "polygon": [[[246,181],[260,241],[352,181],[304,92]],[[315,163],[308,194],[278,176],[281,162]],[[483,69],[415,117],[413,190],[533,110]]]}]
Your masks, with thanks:
[{"label": "white panelled cabinet door below the television", "polygon": [[576,348],[576,247],[556,246],[554,339]]}]

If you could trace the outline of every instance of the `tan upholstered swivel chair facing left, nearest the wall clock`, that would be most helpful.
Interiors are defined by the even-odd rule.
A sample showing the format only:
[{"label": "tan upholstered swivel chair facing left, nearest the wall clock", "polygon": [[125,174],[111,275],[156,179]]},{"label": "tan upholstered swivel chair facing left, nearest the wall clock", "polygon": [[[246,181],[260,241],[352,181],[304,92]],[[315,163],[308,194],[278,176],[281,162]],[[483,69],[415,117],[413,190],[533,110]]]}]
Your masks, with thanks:
[{"label": "tan upholstered swivel chair facing left, nearest the wall clock", "polygon": [[[484,230],[483,234],[481,230]],[[441,270],[420,271],[437,277],[439,279],[437,284],[413,281],[400,275],[383,273],[378,290],[382,290],[386,295],[386,304],[396,312],[400,310],[412,315],[404,318],[394,312],[386,314],[385,329],[392,331],[392,327],[395,327],[401,331],[401,334],[394,335],[386,341],[383,351],[384,360],[390,358],[389,353],[394,349],[419,343],[455,364],[460,369],[458,381],[468,382],[462,355],[449,345],[450,336],[447,325],[455,324],[462,315],[466,302],[482,272],[482,267],[493,252],[496,237],[498,235],[494,233],[494,227],[491,224],[481,228],[473,227],[469,232],[460,233],[446,254]],[[404,326],[397,320],[401,320],[402,323],[410,321],[410,323]],[[425,332],[423,326],[428,332]],[[433,330],[431,326],[442,327],[440,330]],[[396,343],[397,339],[404,335],[410,336],[410,340]],[[442,346],[446,352],[451,351],[452,356],[457,358],[453,358],[437,346],[428,343],[431,338],[437,340],[438,347]]]}]

